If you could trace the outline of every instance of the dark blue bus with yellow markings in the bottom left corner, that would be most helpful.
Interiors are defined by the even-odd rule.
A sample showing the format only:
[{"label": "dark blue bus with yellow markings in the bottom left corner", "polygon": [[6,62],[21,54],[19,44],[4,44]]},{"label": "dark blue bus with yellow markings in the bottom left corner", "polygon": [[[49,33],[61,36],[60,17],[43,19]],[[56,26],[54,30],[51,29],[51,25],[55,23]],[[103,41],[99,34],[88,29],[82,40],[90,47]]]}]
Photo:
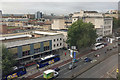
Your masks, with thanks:
[{"label": "dark blue bus with yellow markings in the bottom left corner", "polygon": [[13,67],[12,72],[2,76],[2,80],[13,80],[13,79],[16,79],[17,77],[20,77],[26,73],[27,73],[27,71],[24,66],[20,66],[20,67],[15,66],[15,67]]}]

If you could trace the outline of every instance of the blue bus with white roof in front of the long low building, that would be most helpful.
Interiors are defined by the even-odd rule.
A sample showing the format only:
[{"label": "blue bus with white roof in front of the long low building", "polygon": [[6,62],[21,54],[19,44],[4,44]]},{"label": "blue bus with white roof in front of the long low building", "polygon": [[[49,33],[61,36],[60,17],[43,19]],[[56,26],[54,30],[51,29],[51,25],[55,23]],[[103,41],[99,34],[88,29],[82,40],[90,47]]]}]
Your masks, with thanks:
[{"label": "blue bus with white roof in front of the long low building", "polygon": [[59,55],[49,55],[44,58],[41,58],[41,61],[37,62],[37,68],[42,68],[47,65],[53,64],[60,60]]}]

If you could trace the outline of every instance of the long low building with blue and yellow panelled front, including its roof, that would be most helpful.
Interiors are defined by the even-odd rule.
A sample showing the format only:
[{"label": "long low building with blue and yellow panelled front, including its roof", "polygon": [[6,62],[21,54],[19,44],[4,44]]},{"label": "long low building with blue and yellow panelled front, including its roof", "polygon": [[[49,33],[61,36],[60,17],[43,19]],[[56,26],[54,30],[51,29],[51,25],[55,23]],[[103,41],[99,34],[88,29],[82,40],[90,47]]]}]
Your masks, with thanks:
[{"label": "long low building with blue and yellow panelled front, including its roof", "polygon": [[[2,35],[3,36],[3,35]],[[30,31],[9,34],[0,40],[20,63],[26,64],[63,48],[63,35],[59,33]]]}]

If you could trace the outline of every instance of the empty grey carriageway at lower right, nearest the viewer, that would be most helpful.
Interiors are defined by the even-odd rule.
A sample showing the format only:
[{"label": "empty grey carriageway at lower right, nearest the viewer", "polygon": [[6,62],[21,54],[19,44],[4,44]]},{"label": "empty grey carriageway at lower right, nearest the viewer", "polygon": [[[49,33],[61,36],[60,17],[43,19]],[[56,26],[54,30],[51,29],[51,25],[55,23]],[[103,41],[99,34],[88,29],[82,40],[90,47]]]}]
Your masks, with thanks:
[{"label": "empty grey carriageway at lower right, nearest the viewer", "polygon": [[77,78],[105,78],[104,76],[118,65],[118,54],[115,54]]}]

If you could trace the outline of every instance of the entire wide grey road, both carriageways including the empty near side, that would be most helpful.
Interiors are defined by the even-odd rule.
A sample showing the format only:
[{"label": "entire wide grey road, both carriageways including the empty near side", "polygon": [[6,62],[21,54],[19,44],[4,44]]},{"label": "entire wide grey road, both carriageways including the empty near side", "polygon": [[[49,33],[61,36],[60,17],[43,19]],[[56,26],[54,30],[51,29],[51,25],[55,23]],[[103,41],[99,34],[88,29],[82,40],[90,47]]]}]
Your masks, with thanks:
[{"label": "entire wide grey road, both carriageways including the empty near side", "polygon": [[[70,63],[60,67],[59,76],[57,78],[72,78],[72,77],[75,77],[75,78],[101,78],[101,77],[103,77],[107,73],[107,71],[112,69],[118,63],[117,55],[113,55],[108,58],[108,56],[110,54],[113,54],[114,52],[117,53],[117,51],[118,51],[117,48],[113,49],[113,46],[114,46],[114,44],[106,46],[100,50],[93,51],[93,52],[83,56],[82,58],[79,59],[79,62],[76,63],[77,67],[72,70],[68,69]],[[107,51],[108,48],[112,49],[112,50]],[[100,57],[95,57],[94,54],[100,54]],[[107,59],[105,59],[101,63],[95,65],[94,67],[91,67],[88,70],[87,68],[89,68],[90,65],[95,64],[97,61],[93,62],[93,63],[85,62],[84,61],[85,57],[89,57],[89,58],[91,58],[93,60],[97,60],[97,61],[99,61],[101,59],[105,59],[105,58],[107,58]],[[41,75],[37,78],[41,78]]]}]

